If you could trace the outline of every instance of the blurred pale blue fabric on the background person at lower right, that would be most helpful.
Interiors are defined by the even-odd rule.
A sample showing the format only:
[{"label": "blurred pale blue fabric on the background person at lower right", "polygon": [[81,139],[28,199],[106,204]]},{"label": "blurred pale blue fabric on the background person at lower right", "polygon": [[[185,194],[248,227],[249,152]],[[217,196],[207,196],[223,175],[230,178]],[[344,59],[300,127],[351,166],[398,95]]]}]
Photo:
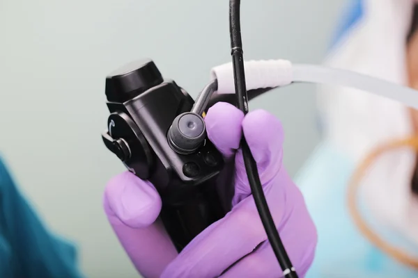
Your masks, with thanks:
[{"label": "blurred pale blue fabric on the background person at lower right", "polygon": [[[348,158],[323,143],[295,177],[318,229],[316,256],[306,278],[418,277],[418,272],[380,252],[357,231],[346,203],[353,169]],[[369,224],[390,243],[412,246],[373,222]],[[418,250],[408,252],[418,254]]]}]

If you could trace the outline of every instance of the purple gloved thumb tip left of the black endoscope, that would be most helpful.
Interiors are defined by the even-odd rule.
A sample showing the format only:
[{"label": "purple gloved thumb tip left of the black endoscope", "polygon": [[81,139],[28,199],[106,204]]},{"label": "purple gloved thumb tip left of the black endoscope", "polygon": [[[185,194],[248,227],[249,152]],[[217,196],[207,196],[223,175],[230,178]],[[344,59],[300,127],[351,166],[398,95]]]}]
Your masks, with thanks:
[{"label": "purple gloved thumb tip left of the black endoscope", "polygon": [[123,172],[107,183],[104,211],[109,220],[116,217],[132,228],[148,227],[160,215],[161,199],[150,182]]}]

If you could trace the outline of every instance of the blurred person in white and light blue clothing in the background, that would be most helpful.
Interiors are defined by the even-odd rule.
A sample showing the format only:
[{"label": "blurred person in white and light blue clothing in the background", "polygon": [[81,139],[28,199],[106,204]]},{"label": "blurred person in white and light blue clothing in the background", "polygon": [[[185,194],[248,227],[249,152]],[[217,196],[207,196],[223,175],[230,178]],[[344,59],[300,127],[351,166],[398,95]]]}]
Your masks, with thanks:
[{"label": "blurred person in white and light blue clothing in the background", "polygon": [[[415,1],[349,2],[327,65],[418,89]],[[323,141],[295,179],[318,228],[307,277],[417,277],[418,112],[348,88],[318,105]]]}]

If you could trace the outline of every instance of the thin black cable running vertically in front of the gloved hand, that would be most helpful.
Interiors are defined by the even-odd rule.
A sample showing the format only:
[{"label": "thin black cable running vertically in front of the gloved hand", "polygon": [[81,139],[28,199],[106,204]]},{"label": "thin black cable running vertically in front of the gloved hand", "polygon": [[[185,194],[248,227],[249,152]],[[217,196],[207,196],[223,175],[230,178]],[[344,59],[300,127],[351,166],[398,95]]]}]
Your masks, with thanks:
[{"label": "thin black cable running vertically in front of the gloved hand", "polygon": [[[247,114],[248,97],[245,84],[244,58],[241,40],[240,0],[229,1],[229,33],[231,36],[231,56],[237,105],[244,114]],[[261,185],[260,177],[258,176],[257,164],[251,154],[245,136],[242,136],[241,148],[251,193],[254,197],[258,214],[263,222],[272,250],[277,257],[277,261],[279,261],[284,277],[297,278],[295,268],[293,268],[284,245],[281,243],[279,232],[277,231],[272,215],[270,214],[267,201],[265,200],[263,186]]]}]

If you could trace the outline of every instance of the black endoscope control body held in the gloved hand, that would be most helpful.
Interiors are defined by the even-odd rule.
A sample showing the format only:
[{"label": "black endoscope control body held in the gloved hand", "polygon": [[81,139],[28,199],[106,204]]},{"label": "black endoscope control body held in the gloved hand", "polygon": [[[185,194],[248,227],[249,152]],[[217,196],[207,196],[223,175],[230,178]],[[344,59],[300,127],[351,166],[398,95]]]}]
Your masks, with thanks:
[{"label": "black endoscope control body held in the gloved hand", "polygon": [[152,60],[139,60],[106,79],[107,149],[162,198],[160,218],[180,252],[231,210],[233,174],[208,140],[202,114],[216,81],[194,103]]}]

